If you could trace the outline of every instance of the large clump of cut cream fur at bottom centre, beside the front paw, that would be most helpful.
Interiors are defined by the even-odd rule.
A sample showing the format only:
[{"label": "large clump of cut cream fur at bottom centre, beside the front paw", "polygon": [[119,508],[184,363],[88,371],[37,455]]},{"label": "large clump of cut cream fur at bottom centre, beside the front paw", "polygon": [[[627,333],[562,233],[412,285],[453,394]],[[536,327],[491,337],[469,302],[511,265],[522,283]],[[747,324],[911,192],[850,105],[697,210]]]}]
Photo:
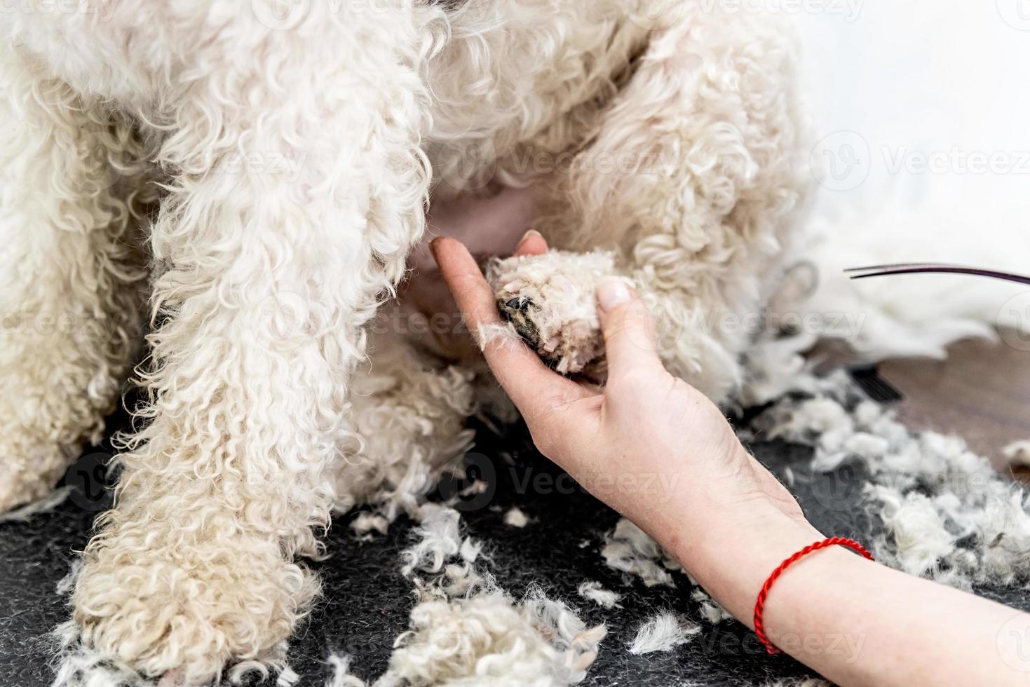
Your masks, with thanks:
[{"label": "large clump of cut cream fur at bottom centre, beside the front paw", "polygon": [[[420,509],[418,541],[404,552],[419,603],[377,687],[560,687],[580,682],[607,630],[530,588],[516,602],[475,563],[481,546],[449,507]],[[344,683],[347,684],[347,683]]]}]

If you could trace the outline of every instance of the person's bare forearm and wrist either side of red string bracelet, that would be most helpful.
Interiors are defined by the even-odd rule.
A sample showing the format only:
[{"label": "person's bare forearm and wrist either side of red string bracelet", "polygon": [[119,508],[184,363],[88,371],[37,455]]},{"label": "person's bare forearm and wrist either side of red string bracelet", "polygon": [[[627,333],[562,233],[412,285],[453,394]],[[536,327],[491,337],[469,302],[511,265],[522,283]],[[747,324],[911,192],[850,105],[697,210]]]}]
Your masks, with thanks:
[{"label": "person's bare forearm and wrist either side of red string bracelet", "polygon": [[[674,554],[730,613],[752,626],[758,591],[792,553],[824,539],[806,522],[744,508],[749,522],[714,525]],[[837,684],[1025,685],[998,651],[1020,614],[892,571],[842,548],[805,556],[776,582],[763,620],[769,640]],[[1030,618],[1021,627],[1030,627]]]}]

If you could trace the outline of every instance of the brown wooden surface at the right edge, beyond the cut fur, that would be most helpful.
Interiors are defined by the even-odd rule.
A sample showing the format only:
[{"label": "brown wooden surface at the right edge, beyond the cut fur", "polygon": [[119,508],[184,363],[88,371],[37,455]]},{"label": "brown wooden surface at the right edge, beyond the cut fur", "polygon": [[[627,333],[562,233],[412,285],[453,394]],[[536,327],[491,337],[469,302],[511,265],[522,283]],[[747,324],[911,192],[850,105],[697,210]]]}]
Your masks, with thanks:
[{"label": "brown wooden surface at the right edge, beyond the cut fur", "polygon": [[905,424],[956,434],[1001,470],[1008,469],[1002,449],[1030,440],[1030,351],[968,340],[945,360],[889,360],[880,372],[905,397],[898,406]]}]

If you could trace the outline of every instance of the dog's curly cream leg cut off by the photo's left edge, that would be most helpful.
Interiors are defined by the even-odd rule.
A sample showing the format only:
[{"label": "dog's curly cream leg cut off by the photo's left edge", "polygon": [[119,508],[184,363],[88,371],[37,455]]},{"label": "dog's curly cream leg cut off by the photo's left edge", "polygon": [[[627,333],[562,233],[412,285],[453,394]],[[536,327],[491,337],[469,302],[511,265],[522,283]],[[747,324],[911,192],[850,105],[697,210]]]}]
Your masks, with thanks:
[{"label": "dog's curly cream leg cut off by the photo's left edge", "polygon": [[97,441],[140,338],[139,142],[0,46],[0,512]]}]

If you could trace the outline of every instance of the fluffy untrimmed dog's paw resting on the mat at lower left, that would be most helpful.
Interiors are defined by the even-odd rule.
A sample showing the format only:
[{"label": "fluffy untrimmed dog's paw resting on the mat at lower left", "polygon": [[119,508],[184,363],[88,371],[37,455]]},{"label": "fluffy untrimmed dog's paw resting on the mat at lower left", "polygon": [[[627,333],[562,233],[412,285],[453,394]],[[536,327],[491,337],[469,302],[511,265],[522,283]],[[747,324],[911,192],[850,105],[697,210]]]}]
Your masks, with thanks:
[{"label": "fluffy untrimmed dog's paw resting on the mat at lower left", "polygon": [[317,581],[282,558],[274,536],[221,524],[205,527],[202,543],[196,533],[140,524],[91,544],[72,599],[83,649],[184,685],[217,681],[229,665],[281,658]]}]

